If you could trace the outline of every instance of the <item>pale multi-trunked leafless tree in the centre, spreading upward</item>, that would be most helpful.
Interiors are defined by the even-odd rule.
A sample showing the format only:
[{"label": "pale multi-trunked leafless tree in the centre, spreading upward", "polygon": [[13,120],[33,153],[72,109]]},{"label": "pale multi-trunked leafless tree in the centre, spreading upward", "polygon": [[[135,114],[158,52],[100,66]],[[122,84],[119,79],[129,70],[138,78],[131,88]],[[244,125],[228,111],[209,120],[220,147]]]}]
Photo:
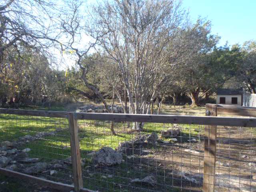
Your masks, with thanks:
[{"label": "pale multi-trunked leafless tree in the centre, spreading upward", "polygon": [[[93,7],[88,33],[116,62],[132,114],[148,114],[157,92],[168,81],[166,46],[184,12],[174,0],[105,1]],[[138,123],[136,130],[142,128]]]}]

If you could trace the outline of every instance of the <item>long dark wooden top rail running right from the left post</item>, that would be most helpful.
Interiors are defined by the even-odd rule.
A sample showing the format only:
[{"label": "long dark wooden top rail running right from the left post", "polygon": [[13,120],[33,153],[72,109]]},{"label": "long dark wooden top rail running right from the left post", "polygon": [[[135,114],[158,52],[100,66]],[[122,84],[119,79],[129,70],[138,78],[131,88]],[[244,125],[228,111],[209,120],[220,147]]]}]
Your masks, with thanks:
[{"label": "long dark wooden top rail running right from the left post", "polygon": [[181,116],[181,115],[140,115],[140,114],[106,114],[76,113],[77,119],[108,120],[115,122],[154,122],[196,125],[219,125],[256,127],[256,118],[213,117],[213,116]]}]

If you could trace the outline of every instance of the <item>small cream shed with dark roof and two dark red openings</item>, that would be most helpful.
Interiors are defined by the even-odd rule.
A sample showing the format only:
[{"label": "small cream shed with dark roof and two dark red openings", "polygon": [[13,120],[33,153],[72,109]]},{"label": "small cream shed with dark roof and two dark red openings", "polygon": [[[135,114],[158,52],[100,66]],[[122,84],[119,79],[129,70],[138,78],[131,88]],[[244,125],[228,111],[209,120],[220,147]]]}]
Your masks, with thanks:
[{"label": "small cream shed with dark roof and two dark red openings", "polygon": [[217,104],[242,106],[243,90],[242,89],[218,89]]}]

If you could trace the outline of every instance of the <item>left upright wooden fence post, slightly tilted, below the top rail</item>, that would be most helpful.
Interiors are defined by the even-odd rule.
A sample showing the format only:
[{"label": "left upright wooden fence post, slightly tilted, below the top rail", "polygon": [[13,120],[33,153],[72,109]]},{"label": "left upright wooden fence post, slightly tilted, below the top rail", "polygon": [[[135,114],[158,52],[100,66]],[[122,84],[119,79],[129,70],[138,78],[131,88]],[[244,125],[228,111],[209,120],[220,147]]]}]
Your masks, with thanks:
[{"label": "left upright wooden fence post, slightly tilted, below the top rail", "polygon": [[70,129],[71,160],[73,168],[74,190],[79,192],[83,188],[81,155],[78,140],[78,124],[73,113],[68,113]]}]

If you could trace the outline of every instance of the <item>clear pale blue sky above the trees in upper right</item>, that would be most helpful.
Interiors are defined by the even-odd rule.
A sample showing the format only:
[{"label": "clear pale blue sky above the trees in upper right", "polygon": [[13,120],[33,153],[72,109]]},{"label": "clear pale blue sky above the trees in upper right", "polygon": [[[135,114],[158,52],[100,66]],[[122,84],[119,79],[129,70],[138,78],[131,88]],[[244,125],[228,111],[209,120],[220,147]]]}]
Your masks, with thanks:
[{"label": "clear pale blue sky above the trees in upper right", "polygon": [[221,36],[219,45],[256,40],[256,0],[183,0],[193,20],[198,15],[212,22],[212,34]]}]

